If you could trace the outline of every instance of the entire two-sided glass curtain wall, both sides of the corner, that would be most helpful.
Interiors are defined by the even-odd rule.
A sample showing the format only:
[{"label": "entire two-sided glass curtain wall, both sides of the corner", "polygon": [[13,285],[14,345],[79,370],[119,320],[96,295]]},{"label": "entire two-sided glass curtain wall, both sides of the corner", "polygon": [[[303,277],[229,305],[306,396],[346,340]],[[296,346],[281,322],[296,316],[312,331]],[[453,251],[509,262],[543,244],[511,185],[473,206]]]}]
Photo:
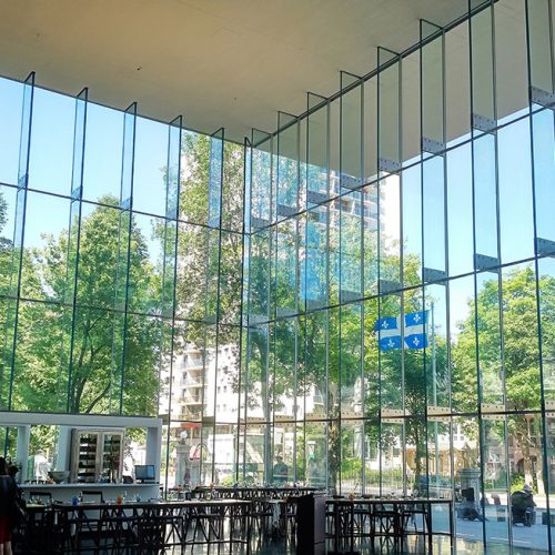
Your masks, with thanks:
[{"label": "entire two-sided glass curtain wall, both sides of the corner", "polygon": [[0,408],[158,414],[169,487],[454,498],[548,552],[554,10],[466,16],[244,144],[0,80]]}]

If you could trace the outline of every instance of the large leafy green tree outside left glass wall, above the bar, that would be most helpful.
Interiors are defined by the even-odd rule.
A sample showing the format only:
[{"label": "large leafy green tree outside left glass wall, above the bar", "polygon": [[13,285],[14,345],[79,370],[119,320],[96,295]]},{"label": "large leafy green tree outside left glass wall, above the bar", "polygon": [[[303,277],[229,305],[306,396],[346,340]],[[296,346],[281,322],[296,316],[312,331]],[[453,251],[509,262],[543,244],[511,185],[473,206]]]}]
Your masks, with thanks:
[{"label": "large leafy green tree outside left glass wall, above the bar", "polygon": [[[115,199],[101,202],[115,204]],[[82,218],[74,314],[68,302],[73,291],[77,220],[69,234],[46,235],[42,249],[26,252],[27,294],[46,302],[20,303],[13,393],[17,410],[119,412],[121,395],[123,413],[155,414],[162,323],[154,315],[131,313],[125,321],[121,312],[129,218],[129,213],[102,205]],[[133,220],[129,283],[130,307],[138,307],[140,294],[153,300],[151,306],[143,304],[141,309],[155,314],[159,278]]]}]

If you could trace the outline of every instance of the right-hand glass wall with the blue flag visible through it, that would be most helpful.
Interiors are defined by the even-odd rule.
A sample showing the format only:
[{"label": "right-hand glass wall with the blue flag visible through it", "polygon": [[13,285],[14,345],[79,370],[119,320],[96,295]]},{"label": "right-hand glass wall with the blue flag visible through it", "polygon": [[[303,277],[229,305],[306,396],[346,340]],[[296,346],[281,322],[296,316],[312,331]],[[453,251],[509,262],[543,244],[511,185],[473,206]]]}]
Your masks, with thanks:
[{"label": "right-hand glass wall with the blue flag visible through it", "polygon": [[478,549],[548,551],[554,13],[467,16],[251,138],[239,480],[453,497]]}]

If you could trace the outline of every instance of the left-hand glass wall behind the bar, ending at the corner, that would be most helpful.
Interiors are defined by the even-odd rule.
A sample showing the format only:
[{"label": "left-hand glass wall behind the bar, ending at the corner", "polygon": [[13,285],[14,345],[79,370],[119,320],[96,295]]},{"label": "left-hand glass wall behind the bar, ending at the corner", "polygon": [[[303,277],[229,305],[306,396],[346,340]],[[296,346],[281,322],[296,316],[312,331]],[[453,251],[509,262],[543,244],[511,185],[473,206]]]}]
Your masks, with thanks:
[{"label": "left-hand glass wall behind the bar, ending at the corner", "polygon": [[0,411],[160,415],[170,486],[231,482],[244,145],[34,74],[0,105]]}]

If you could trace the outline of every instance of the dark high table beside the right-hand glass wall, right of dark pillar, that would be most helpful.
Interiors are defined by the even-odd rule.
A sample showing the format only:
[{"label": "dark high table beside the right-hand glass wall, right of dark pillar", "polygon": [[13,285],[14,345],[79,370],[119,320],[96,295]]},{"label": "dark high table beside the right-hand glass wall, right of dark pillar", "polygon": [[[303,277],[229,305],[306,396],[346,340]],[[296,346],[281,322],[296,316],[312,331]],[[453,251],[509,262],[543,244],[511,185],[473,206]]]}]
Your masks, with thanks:
[{"label": "dark high table beside the right-hand glass wall, right of dark pillar", "polygon": [[[354,553],[354,538],[391,537],[394,547],[400,548],[408,535],[408,521],[415,515],[422,515],[424,529],[418,532],[416,525],[413,534],[424,534],[427,537],[428,552],[432,553],[433,527],[432,513],[434,506],[447,506],[450,536],[453,537],[453,501],[438,498],[327,498],[326,505],[332,508],[333,515],[333,548],[340,553],[342,544],[349,544]],[[369,519],[366,532],[365,519]],[[376,524],[379,528],[376,528]],[[356,528],[356,532],[355,532]]]}]

